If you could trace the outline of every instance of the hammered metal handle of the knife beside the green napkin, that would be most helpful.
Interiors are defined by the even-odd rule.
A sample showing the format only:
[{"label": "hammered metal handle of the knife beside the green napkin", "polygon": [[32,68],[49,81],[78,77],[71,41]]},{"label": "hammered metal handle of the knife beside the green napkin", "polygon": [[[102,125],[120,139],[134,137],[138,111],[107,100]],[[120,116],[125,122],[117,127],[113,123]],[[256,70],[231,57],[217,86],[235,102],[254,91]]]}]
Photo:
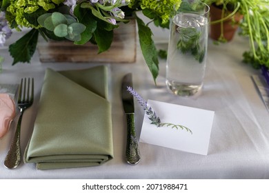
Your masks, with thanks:
[{"label": "hammered metal handle of the knife beside the green napkin", "polygon": [[127,121],[127,143],[126,143],[126,161],[135,165],[140,161],[140,151],[135,133],[135,114],[126,113]]}]

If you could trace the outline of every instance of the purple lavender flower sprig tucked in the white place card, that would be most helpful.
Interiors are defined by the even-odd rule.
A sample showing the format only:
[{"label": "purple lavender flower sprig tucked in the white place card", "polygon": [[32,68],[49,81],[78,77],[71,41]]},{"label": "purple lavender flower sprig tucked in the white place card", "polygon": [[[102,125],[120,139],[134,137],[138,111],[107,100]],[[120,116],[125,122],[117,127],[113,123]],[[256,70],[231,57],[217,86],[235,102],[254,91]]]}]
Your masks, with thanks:
[{"label": "purple lavender flower sprig tucked in the white place card", "polygon": [[135,96],[137,99],[137,102],[143,107],[143,110],[145,110],[146,114],[148,115],[148,119],[150,119],[151,124],[157,125],[159,127],[161,120],[159,119],[159,116],[152,110],[150,105],[140,96],[134,89],[131,87],[127,87],[128,92],[132,94],[132,96]]}]

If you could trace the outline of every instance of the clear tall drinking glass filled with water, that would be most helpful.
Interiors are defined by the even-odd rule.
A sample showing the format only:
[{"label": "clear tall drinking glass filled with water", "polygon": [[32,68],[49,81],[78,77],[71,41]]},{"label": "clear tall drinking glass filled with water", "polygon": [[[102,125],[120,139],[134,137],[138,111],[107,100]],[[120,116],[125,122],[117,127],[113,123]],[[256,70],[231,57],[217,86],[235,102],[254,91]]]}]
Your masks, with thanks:
[{"label": "clear tall drinking glass filled with water", "polygon": [[209,7],[200,1],[182,1],[172,17],[166,85],[179,96],[191,96],[203,85],[208,48]]}]

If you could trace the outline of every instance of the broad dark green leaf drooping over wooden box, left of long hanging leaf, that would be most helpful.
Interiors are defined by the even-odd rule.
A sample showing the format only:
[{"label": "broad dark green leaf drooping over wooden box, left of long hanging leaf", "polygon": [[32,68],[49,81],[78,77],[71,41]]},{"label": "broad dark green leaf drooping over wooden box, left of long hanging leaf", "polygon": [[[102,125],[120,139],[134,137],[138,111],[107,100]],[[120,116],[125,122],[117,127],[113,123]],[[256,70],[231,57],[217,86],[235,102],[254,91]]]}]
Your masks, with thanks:
[{"label": "broad dark green leaf drooping over wooden box, left of long hanging leaf", "polygon": [[[95,41],[97,42],[99,52],[105,52],[110,48],[113,40],[113,31],[106,31],[101,28],[97,28],[94,32]],[[106,37],[106,38],[104,38]]]}]

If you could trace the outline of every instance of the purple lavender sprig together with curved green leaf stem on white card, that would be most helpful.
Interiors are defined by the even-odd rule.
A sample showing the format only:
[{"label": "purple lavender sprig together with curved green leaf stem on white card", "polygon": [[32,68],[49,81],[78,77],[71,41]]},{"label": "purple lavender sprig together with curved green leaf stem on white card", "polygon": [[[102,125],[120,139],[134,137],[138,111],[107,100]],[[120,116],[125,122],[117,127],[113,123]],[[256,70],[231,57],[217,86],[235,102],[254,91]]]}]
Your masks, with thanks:
[{"label": "purple lavender sprig together with curved green leaf stem on white card", "polygon": [[138,94],[137,91],[135,91],[133,88],[131,87],[127,87],[128,92],[130,92],[130,94],[132,94],[132,96],[135,96],[135,98],[137,99],[137,102],[139,103],[139,105],[141,105],[143,107],[143,110],[145,110],[145,113],[148,116],[148,119],[150,119],[151,123],[153,125],[157,125],[157,128],[159,127],[171,127],[172,129],[177,129],[179,130],[179,128],[181,130],[186,130],[187,132],[190,132],[190,134],[192,134],[192,130],[190,130],[189,128],[183,126],[183,125],[179,125],[179,124],[174,124],[174,123],[161,123],[161,119],[159,118],[159,116],[157,116],[156,112],[152,109],[152,107],[150,107],[150,105],[148,105],[148,103],[143,99],[143,97]]}]

